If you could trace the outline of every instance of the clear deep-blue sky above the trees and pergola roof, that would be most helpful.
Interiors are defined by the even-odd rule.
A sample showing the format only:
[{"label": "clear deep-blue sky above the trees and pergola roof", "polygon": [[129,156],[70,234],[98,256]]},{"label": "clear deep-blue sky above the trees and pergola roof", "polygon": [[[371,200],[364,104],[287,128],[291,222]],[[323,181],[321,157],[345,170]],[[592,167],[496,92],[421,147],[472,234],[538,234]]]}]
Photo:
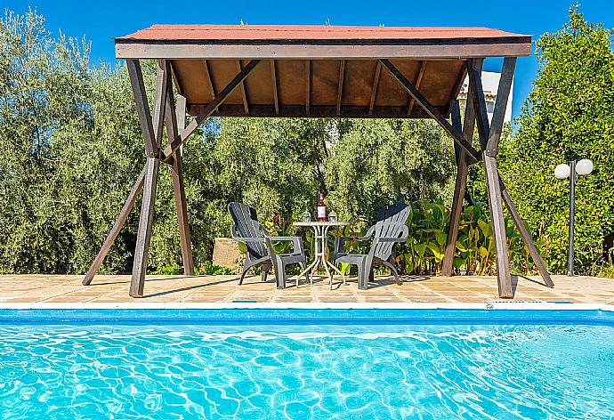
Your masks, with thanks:
[{"label": "clear deep-blue sky above the trees and pergola roof", "polygon": [[[156,23],[325,24],[385,26],[482,26],[537,36],[553,32],[567,20],[572,0],[507,1],[192,1],[148,0],[87,2],[85,0],[16,1],[5,8],[26,12],[28,6],[44,15],[54,34],[86,36],[92,41],[93,61],[115,61],[113,36],[123,36]],[[614,28],[614,0],[585,0],[586,20]],[[530,92],[538,68],[534,55],[516,67],[513,116]],[[501,61],[485,63],[499,71]]]}]

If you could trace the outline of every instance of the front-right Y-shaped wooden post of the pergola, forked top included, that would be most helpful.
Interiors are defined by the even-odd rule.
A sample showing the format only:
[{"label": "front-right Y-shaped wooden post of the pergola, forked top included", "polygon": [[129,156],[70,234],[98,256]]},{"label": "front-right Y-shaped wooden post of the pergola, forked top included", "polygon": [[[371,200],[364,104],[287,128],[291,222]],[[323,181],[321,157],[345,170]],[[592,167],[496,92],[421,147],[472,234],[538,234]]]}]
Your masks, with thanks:
[{"label": "front-right Y-shaped wooden post of the pergola, forked top included", "polygon": [[510,272],[509,255],[507,254],[507,238],[505,236],[505,218],[503,215],[501,185],[497,171],[497,150],[501,138],[501,130],[505,117],[507,98],[510,93],[513,78],[515,58],[505,58],[503,71],[497,90],[497,101],[492,117],[492,125],[489,125],[486,101],[484,100],[481,85],[481,74],[470,66],[469,77],[475,89],[472,90],[473,106],[476,109],[478,121],[478,133],[484,159],[484,171],[486,172],[486,190],[489,198],[490,222],[492,224],[493,239],[495,240],[495,252],[497,257],[497,283],[499,297],[513,297],[512,275]]}]

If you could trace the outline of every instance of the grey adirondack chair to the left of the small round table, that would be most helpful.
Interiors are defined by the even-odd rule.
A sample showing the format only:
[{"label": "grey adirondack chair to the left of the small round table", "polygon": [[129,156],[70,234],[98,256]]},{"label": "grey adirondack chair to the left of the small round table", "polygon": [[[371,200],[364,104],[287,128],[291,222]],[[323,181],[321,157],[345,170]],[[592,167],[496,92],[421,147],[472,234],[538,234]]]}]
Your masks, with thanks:
[{"label": "grey adirondack chair to the left of the small round table", "polygon": [[[238,281],[239,285],[243,284],[247,270],[258,265],[262,268],[262,281],[266,281],[269,270],[271,270],[271,267],[273,268],[278,288],[286,287],[287,264],[300,263],[303,266],[303,270],[305,269],[307,261],[303,250],[302,238],[271,237],[264,226],[258,222],[255,210],[243,203],[230,203],[228,205],[228,213],[230,213],[233,222],[230,228],[230,238],[237,242],[243,242],[247,247],[241,279]],[[275,249],[272,246],[274,241],[292,242],[294,244],[293,252],[290,254],[275,253]],[[305,278],[307,278],[307,274],[305,274]],[[298,281],[299,279],[296,279],[297,287]]]}]

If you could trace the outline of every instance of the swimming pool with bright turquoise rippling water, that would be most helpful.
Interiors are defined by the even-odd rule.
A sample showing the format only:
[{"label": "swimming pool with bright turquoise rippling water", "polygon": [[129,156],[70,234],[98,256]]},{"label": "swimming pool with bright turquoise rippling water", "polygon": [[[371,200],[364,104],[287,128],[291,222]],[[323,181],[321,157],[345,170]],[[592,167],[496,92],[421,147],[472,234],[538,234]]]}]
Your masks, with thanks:
[{"label": "swimming pool with bright turquoise rippling water", "polygon": [[0,417],[614,416],[609,311],[0,310]]}]

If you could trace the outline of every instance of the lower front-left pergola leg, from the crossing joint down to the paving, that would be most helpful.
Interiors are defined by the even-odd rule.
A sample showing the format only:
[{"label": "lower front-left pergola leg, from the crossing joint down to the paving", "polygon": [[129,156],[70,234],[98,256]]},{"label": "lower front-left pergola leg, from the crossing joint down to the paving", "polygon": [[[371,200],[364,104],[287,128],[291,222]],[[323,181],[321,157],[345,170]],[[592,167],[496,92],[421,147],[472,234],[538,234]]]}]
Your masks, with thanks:
[{"label": "lower front-left pergola leg, from the crossing joint down to the paving", "polygon": [[130,282],[130,295],[142,297],[145,285],[145,273],[149,256],[149,239],[153,225],[154,201],[156,199],[156,185],[158,183],[158,158],[147,158],[145,164],[145,180],[143,183],[143,196],[141,203],[141,219],[139,231],[136,236],[134,249],[133,276]]}]

